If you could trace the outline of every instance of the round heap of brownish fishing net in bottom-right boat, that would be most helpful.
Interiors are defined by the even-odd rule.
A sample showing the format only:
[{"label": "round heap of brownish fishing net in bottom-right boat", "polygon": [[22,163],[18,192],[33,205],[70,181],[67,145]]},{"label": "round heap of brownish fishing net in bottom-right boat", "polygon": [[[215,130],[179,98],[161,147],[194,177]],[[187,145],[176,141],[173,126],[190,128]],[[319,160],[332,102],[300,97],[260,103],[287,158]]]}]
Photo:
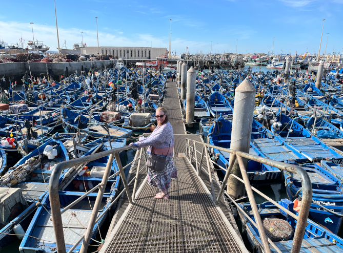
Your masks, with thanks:
[{"label": "round heap of brownish fishing net in bottom-right boat", "polygon": [[293,227],[285,220],[281,219],[264,219],[266,235],[273,242],[289,240],[294,233]]}]

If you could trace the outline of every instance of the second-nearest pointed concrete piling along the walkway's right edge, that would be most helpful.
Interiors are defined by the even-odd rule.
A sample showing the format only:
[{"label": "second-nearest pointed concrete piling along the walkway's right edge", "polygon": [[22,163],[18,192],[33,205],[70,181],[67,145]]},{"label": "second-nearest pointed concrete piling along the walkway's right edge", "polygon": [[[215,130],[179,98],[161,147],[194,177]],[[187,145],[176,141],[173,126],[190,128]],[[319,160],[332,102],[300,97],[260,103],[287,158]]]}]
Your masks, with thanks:
[{"label": "second-nearest pointed concrete piling along the walkway's right edge", "polygon": [[[187,65],[186,65],[187,66]],[[194,104],[195,104],[195,80],[196,71],[191,67],[187,71],[187,95],[186,95],[186,127],[192,128],[194,122]]]}]

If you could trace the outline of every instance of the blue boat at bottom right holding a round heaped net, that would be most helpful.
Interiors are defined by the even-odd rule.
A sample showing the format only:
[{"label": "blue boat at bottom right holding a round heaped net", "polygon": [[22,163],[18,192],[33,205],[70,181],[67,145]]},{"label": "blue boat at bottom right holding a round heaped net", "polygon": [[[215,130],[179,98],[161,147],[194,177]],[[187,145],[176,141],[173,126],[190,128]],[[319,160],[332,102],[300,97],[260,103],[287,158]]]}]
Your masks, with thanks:
[{"label": "blue boat at bottom right holding a round heaped net", "polygon": [[[278,204],[284,206],[288,210],[293,213],[296,213],[294,210],[293,202],[289,201],[288,199],[281,199],[281,201],[277,201]],[[242,208],[249,217],[255,221],[255,218],[252,213],[252,208],[250,203],[239,203],[240,208]],[[279,238],[275,236],[271,236],[271,239],[274,241],[275,245],[282,251],[282,252],[291,252],[292,242],[294,231],[296,227],[296,220],[290,217],[287,213],[283,210],[280,210],[276,205],[271,202],[264,202],[257,205],[258,212],[263,220],[264,226],[266,227],[265,230],[267,231],[267,235],[269,234],[269,229],[273,229],[274,224],[280,224],[280,226],[284,227],[284,238]],[[264,251],[261,249],[260,245],[263,245],[258,229],[243,215],[241,211],[239,212],[239,216],[241,222],[243,224],[243,229],[247,234],[248,241],[253,248],[254,253],[263,253]],[[256,222],[256,221],[255,221]],[[287,225],[288,224],[288,225]],[[287,230],[286,230],[287,226]],[[274,227],[277,229],[277,227]],[[270,246],[272,252],[276,252],[276,250]],[[313,253],[313,252],[336,252],[341,253],[343,252],[343,240],[325,229],[320,225],[316,224],[312,220],[307,220],[307,226],[305,228],[305,235],[304,239],[302,239],[301,249],[300,252],[302,253]]]}]

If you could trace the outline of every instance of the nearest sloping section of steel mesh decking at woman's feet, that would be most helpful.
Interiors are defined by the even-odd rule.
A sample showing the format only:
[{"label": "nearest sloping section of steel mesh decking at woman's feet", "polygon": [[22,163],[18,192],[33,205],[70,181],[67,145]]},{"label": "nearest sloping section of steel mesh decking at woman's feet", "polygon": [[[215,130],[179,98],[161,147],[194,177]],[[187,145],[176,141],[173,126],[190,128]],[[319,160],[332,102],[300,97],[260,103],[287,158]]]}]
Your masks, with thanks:
[{"label": "nearest sloping section of steel mesh decking at woman's feet", "polygon": [[186,158],[168,200],[145,183],[111,242],[100,252],[241,252]]}]

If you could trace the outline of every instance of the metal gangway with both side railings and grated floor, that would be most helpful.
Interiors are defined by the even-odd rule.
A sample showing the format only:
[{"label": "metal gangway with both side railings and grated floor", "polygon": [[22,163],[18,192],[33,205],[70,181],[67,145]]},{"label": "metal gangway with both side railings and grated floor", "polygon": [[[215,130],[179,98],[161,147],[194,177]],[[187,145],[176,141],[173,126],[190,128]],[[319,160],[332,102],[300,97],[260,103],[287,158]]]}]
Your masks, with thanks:
[{"label": "metal gangway with both side railings and grated floor", "polygon": [[[118,153],[131,149],[132,146],[120,147],[95,153],[86,157],[58,163],[51,173],[49,182],[49,197],[51,205],[52,222],[55,233],[57,251],[66,252],[64,225],[62,214],[71,206],[78,203],[89,193],[98,189],[92,215],[89,218],[86,233],[77,234],[76,243],[68,252],[77,248],[80,253],[87,252],[92,237],[92,229],[96,222],[105,215],[98,215],[98,207],[104,194],[107,180],[114,175],[120,174],[124,189],[119,192],[110,207],[117,203],[116,212],[112,218],[105,243],[100,248],[100,253],[105,252],[246,252],[243,240],[240,237],[236,222],[230,208],[228,208],[228,197],[232,203],[236,203],[226,191],[229,175],[243,182],[246,187],[249,202],[251,203],[255,222],[252,224],[258,229],[261,244],[265,253],[281,253],[280,249],[265,234],[258,207],[253,191],[271,201],[281,210],[297,220],[297,226],[292,242],[292,253],[300,252],[301,247],[307,247],[302,242],[307,226],[310,204],[312,200],[312,185],[304,168],[293,164],[278,162],[275,160],[250,155],[244,152],[213,146],[201,139],[199,135],[186,134],[185,124],[181,114],[175,83],[167,81],[167,94],[164,106],[168,110],[169,119],[174,130],[174,161],[177,167],[178,178],[172,179],[169,199],[155,199],[157,188],[149,186],[147,182],[146,149],[136,152],[135,159],[131,164],[128,177],[125,176]],[[217,149],[232,154],[232,160],[226,168],[220,167],[209,158],[208,149]],[[109,161],[104,173],[102,183],[90,189],[73,203],[61,210],[58,197],[58,179],[65,168],[81,165],[105,156]],[[119,172],[109,176],[113,159],[116,159]],[[243,179],[231,174],[235,160]],[[268,164],[290,173],[295,173],[301,180],[302,201],[298,215],[290,212],[287,208],[279,205],[268,196],[259,192],[250,185],[243,159],[250,159],[260,163]],[[226,171],[223,182],[219,182],[214,164]],[[243,215],[248,216],[244,210]],[[248,216],[248,219],[250,217]],[[52,239],[51,239],[52,240]],[[82,246],[80,246],[82,244]]]}]

